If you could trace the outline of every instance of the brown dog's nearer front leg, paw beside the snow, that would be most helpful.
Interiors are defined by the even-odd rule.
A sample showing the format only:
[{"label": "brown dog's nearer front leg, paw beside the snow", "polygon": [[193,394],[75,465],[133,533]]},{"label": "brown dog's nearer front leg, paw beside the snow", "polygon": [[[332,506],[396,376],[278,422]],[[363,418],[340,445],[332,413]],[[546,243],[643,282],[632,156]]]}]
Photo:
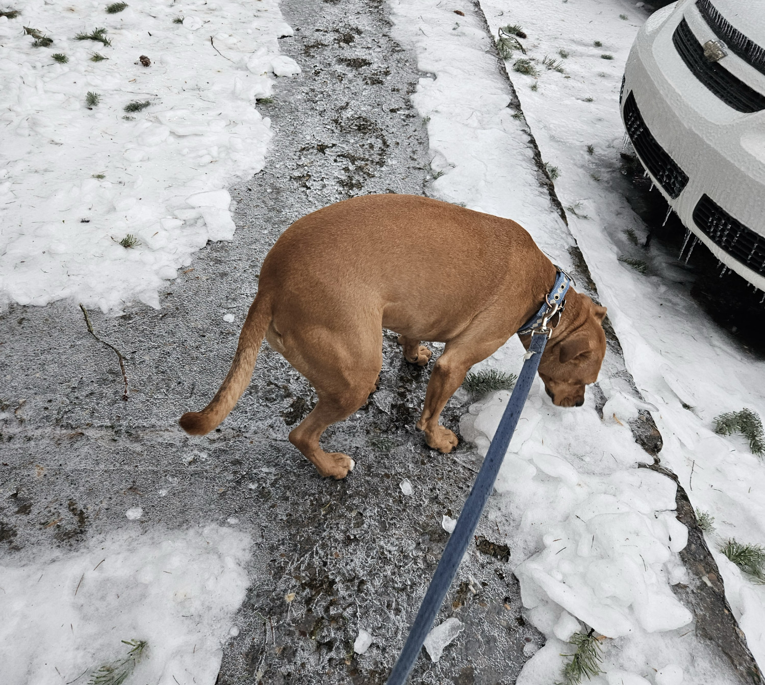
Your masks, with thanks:
[{"label": "brown dog's nearer front leg, paw beside the snow", "polygon": [[425,432],[428,446],[439,452],[451,452],[458,442],[451,430],[438,424],[441,411],[464,381],[468,369],[496,352],[505,342],[504,339],[480,340],[480,337],[462,333],[451,340],[433,367],[417,427]]}]

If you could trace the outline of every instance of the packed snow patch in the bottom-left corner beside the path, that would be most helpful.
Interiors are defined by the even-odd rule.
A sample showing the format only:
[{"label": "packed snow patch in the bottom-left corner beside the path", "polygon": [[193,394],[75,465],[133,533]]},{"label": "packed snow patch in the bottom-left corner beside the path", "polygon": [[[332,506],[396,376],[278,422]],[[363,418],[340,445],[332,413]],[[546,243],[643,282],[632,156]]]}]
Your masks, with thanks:
[{"label": "packed snow patch in the bottom-left corner beside the path", "polygon": [[146,641],[129,682],[213,685],[248,585],[250,539],[230,528],[126,528],[82,550],[0,566],[3,683],[68,683]]}]

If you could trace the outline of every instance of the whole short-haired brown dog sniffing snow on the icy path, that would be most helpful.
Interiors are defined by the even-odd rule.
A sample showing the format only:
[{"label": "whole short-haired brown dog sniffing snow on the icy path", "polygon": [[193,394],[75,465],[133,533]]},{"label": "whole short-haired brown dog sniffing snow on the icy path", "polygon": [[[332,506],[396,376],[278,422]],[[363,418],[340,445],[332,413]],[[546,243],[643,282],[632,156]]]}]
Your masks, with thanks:
[{"label": "whole short-haired brown dog sniffing snow on the icy path", "polygon": [[[404,357],[425,365],[421,340],[445,342],[417,427],[451,452],[438,424],[467,370],[529,320],[555,281],[555,266],[516,222],[412,195],[367,195],[304,216],[263,261],[259,290],[233,363],[213,401],[181,417],[187,433],[213,430],[252,378],[265,337],[311,385],[318,403],[290,442],[321,476],[341,479],[350,456],[327,453],[321,433],[362,406],[382,368],[382,329],[399,333]],[[606,339],[605,307],[570,289],[539,375],[554,404],[580,406]],[[528,346],[530,336],[523,336]]]}]

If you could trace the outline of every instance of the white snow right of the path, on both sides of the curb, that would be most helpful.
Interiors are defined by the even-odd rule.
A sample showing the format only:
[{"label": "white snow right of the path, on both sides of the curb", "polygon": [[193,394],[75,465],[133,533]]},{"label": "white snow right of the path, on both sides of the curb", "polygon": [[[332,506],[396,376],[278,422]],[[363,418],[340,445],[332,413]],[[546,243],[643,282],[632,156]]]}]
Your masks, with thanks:
[{"label": "white snow right of the path, on both sides of the curb", "polygon": [[[433,194],[515,219],[564,268],[571,264],[573,233],[645,398],[633,398],[623,380],[604,367],[599,385],[607,401],[601,419],[592,392],[584,407],[564,409],[554,407],[535,381],[487,508],[491,524],[500,526],[503,542],[513,549],[511,564],[526,615],[547,638],[518,683],[560,680],[561,655],[571,653],[563,640],[579,622],[608,638],[604,674],[592,683],[656,683],[662,669],[668,682],[728,682],[695,637],[691,612],[671,589],[687,579],[679,559],[687,531],[675,518],[675,485],[636,468],[652,459],[634,443],[627,421],[639,409],[652,411],[664,437],[662,462],[679,474],[692,502],[736,521],[721,524],[721,536],[708,537],[708,544],[750,648],[765,663],[763,589],[716,551],[719,541],[733,534],[755,543],[765,539],[757,502],[765,486],[763,466],[740,437],[711,430],[711,419],[721,411],[747,406],[762,413],[762,365],[711,326],[671,279],[646,278],[617,261],[627,244],[623,229],[634,227],[638,235],[646,229],[618,181],[591,177],[600,171],[601,179],[619,178],[621,73],[646,12],[601,0],[482,0],[480,5],[494,34],[508,23],[521,24],[529,34],[522,42],[527,57],[538,60],[539,79],[509,71],[526,122],[513,118],[508,107],[509,91],[480,15],[458,17],[454,8],[428,0],[392,2],[394,35],[415,49],[418,67],[427,73],[413,101],[429,117],[431,166],[443,172],[432,183]],[[594,47],[596,40],[603,47]],[[569,54],[566,73],[545,70],[542,57],[558,58],[560,49]],[[601,54],[614,59],[603,60]],[[509,60],[507,68],[512,64]],[[539,187],[527,126],[542,159],[561,171],[555,187],[563,205],[591,217],[578,218],[569,210],[571,233]],[[588,144],[594,145],[593,156]],[[481,367],[517,373],[522,354],[519,341],[511,339]],[[472,405],[461,421],[463,437],[481,454],[507,398],[508,392],[496,392]],[[693,411],[683,408],[683,401]]]}]

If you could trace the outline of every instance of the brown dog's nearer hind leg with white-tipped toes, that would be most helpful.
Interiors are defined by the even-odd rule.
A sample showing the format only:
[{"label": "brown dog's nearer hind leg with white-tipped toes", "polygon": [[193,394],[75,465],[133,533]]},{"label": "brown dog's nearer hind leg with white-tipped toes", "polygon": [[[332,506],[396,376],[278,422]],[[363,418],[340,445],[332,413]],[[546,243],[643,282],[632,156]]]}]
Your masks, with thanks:
[{"label": "brown dog's nearer hind leg with white-tipped toes", "polygon": [[[353,340],[353,346],[347,344]],[[340,452],[324,452],[321,433],[361,407],[382,368],[382,327],[378,335],[321,335],[314,344],[301,346],[299,359],[285,357],[314,386],[319,401],[292,430],[289,441],[316,466],[319,475],[343,479],[353,470],[353,459]]]}]

